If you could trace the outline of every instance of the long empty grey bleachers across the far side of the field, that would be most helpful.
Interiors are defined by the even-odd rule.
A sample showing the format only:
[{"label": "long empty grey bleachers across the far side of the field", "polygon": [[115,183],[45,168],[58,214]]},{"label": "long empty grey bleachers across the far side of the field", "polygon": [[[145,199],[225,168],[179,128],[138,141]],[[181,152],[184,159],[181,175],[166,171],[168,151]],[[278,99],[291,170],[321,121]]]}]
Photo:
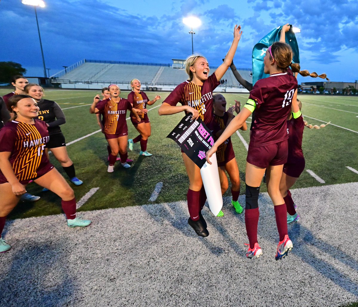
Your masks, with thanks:
[{"label": "long empty grey bleachers across the far side of the field", "polygon": [[[214,71],[215,68],[211,68],[210,73]],[[251,82],[250,70],[238,69],[238,71],[243,78]],[[52,83],[61,83],[62,87],[67,88],[101,88],[108,83],[117,83],[121,84],[122,89],[131,89],[130,81],[134,78],[138,78],[146,89],[171,90],[184,82],[188,76],[185,69],[173,68],[171,64],[82,60],[50,79]],[[227,88],[233,90],[243,88],[230,69],[222,79],[227,82],[220,86],[219,91],[227,91]]]}]

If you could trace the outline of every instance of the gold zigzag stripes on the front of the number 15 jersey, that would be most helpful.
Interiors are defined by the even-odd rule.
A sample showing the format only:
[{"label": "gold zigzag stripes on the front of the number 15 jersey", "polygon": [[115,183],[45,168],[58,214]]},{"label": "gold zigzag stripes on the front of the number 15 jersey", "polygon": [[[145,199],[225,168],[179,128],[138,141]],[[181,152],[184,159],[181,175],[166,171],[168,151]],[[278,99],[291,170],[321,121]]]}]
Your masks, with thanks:
[{"label": "gold zigzag stripes on the front of the number 15 jersey", "polygon": [[26,180],[37,176],[36,170],[41,162],[41,156],[44,151],[44,147],[42,146],[44,143],[38,142],[34,146],[25,147],[24,142],[35,142],[41,139],[41,135],[35,125],[19,123],[17,128],[17,141],[15,146],[19,148],[19,154],[15,159],[13,169],[19,180]]}]

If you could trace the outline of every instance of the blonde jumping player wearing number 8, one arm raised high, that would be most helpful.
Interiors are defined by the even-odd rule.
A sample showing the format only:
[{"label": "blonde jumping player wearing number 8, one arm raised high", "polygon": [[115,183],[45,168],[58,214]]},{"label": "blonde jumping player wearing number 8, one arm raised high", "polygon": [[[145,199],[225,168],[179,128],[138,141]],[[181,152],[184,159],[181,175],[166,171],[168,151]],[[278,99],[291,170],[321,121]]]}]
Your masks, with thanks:
[{"label": "blonde jumping player wearing number 8, one arm raised high", "polygon": [[[187,58],[185,71],[189,75],[189,79],[179,84],[165,98],[158,110],[159,115],[170,115],[184,111],[185,113],[192,113],[194,120],[200,117],[209,129],[213,128],[213,90],[220,84],[220,80],[232,62],[237,44],[241,38],[242,31],[240,32],[240,30],[241,26],[235,25],[234,39],[225,60],[211,76],[209,76],[210,69],[206,58],[195,54]],[[182,105],[176,106],[178,103]],[[182,156],[190,182],[187,194],[190,214],[188,224],[195,230],[197,235],[207,237],[209,232],[201,214],[206,194],[200,169],[184,152],[182,152]]]}]

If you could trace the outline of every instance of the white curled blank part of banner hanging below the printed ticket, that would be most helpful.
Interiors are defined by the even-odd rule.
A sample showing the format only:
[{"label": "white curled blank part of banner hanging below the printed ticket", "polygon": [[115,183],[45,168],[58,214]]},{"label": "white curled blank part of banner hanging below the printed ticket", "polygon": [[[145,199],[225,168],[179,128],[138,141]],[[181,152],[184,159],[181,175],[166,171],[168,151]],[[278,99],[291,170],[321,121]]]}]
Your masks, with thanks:
[{"label": "white curled blank part of banner hanging below the printed ticket", "polygon": [[210,211],[217,216],[223,206],[216,153],[210,157],[211,165],[205,162],[200,169]]}]

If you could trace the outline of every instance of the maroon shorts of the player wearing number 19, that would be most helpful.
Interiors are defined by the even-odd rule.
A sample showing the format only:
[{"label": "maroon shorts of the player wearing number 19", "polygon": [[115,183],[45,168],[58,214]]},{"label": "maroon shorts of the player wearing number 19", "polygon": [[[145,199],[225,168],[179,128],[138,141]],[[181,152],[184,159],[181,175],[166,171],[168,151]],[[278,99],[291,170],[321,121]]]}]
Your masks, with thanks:
[{"label": "maroon shorts of the player wearing number 19", "polygon": [[269,165],[282,165],[287,162],[287,140],[260,147],[248,146],[246,161],[262,169]]}]

